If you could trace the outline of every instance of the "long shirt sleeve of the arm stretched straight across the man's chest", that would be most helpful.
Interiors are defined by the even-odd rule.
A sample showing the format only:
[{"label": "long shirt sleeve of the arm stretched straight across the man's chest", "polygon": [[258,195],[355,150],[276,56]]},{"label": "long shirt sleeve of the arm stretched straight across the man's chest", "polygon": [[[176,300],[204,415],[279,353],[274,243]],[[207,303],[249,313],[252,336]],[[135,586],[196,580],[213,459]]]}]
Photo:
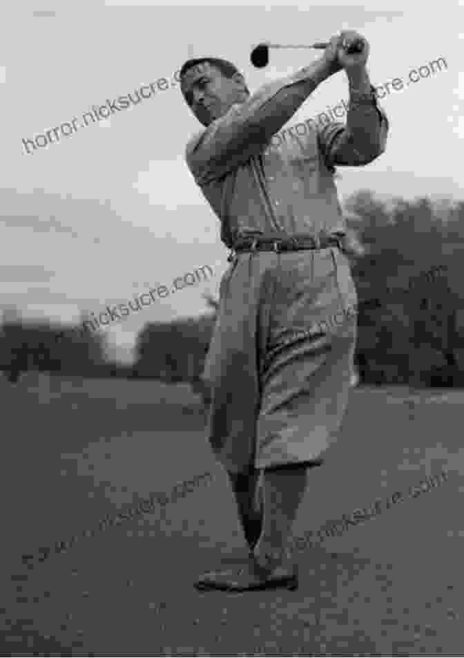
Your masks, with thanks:
[{"label": "long shirt sleeve of the arm stretched straight across the man's chest", "polygon": [[260,153],[321,82],[317,75],[316,67],[308,66],[266,84],[193,137],[186,162],[197,184],[217,180]]}]

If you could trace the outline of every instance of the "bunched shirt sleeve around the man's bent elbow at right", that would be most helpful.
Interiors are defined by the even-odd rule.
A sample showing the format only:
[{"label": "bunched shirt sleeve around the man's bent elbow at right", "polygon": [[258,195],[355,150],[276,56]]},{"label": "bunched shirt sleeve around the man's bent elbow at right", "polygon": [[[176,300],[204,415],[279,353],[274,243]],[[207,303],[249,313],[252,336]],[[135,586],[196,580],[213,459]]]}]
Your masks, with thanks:
[{"label": "bunched shirt sleeve around the man's bent elbow at right", "polygon": [[318,130],[318,141],[327,167],[359,167],[385,151],[389,120],[375,96],[371,102],[351,100],[347,123],[329,123]]}]

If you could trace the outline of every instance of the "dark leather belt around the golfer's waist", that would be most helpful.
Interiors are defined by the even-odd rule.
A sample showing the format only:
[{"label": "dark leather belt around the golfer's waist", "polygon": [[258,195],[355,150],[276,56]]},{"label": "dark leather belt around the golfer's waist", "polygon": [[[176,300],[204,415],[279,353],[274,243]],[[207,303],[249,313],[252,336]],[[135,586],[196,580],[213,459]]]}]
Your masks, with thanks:
[{"label": "dark leather belt around the golfer's waist", "polygon": [[267,236],[240,237],[231,247],[228,261],[239,252],[293,252],[299,250],[320,250],[327,247],[338,247],[342,251],[341,235],[315,236],[284,236],[273,238]]}]

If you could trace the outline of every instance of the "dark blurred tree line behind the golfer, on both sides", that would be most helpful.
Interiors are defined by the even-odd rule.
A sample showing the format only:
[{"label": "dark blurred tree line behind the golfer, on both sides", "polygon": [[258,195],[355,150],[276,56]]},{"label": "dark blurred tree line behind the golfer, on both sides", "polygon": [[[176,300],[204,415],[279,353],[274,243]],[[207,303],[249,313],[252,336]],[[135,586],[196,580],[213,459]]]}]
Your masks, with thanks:
[{"label": "dark blurred tree line behind the golfer, on both sides", "polygon": [[[358,290],[356,364],[361,383],[464,386],[461,312],[464,201],[380,200],[369,190],[344,206],[349,259]],[[83,377],[191,382],[201,373],[218,301],[206,296],[200,317],[147,322],[132,366],[113,363],[97,332],[25,323],[14,311],[0,326],[0,370]],[[84,320],[85,321],[85,320]]]}]

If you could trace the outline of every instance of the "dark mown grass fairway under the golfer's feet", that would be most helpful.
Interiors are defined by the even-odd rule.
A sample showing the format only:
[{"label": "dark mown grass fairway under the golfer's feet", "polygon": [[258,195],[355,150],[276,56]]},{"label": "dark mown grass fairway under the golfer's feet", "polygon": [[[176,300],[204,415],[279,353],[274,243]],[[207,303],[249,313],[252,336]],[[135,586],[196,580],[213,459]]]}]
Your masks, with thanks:
[{"label": "dark mown grass fairway under the golfer's feet", "polygon": [[[246,552],[188,387],[31,373],[0,394],[0,655],[462,655],[464,391],[354,390],[295,534],[376,499],[382,513],[300,552],[298,591],[247,594],[193,588]],[[83,536],[206,471],[185,498]]]}]

